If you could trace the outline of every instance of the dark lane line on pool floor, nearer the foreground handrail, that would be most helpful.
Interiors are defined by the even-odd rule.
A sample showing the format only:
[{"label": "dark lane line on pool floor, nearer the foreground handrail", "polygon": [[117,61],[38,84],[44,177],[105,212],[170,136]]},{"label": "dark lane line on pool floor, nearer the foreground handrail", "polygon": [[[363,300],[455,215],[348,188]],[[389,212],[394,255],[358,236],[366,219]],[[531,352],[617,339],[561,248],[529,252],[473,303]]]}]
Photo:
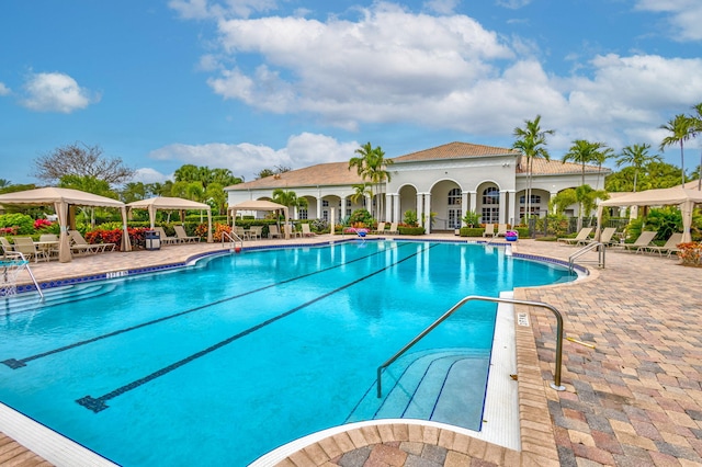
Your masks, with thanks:
[{"label": "dark lane line on pool floor, nearer the foreground handrail", "polygon": [[110,392],[107,392],[107,394],[105,394],[103,396],[94,398],[94,397],[89,395],[89,396],[81,397],[80,399],[76,399],[76,402],[78,402],[79,405],[83,406],[84,408],[87,408],[89,410],[92,410],[95,413],[98,413],[98,412],[100,412],[102,410],[105,410],[105,409],[109,408],[109,406],[105,403],[105,401],[107,401],[110,399],[113,399],[113,398],[115,398],[117,396],[121,396],[121,395],[127,392],[127,391],[131,391],[132,389],[136,389],[139,386],[145,385],[146,383],[149,383],[149,381],[151,381],[151,380],[154,380],[156,378],[159,378],[159,377],[161,377],[161,376],[163,376],[163,375],[166,375],[166,374],[168,374],[168,373],[170,373],[170,372],[172,372],[174,369],[180,368],[183,365],[186,365],[186,364],[200,358],[201,356],[205,356],[205,355],[207,355],[207,354],[210,354],[210,353],[212,353],[212,352],[214,352],[214,351],[216,351],[216,350],[218,350],[218,349],[220,349],[220,348],[223,348],[225,345],[230,344],[231,342],[234,342],[236,340],[239,340],[239,339],[241,339],[241,338],[244,338],[244,337],[246,337],[246,335],[248,335],[248,334],[250,334],[250,333],[252,333],[254,331],[258,331],[258,330],[260,330],[260,329],[262,329],[262,328],[264,328],[264,327],[267,327],[267,326],[269,326],[269,324],[271,324],[271,323],[273,323],[275,321],[279,321],[279,320],[281,320],[281,319],[283,319],[285,317],[288,317],[288,316],[293,315],[294,312],[299,311],[303,308],[307,308],[308,306],[310,306],[313,304],[316,304],[317,301],[320,301],[320,300],[322,300],[322,299],[325,299],[327,297],[330,297],[331,295],[335,295],[335,294],[337,294],[337,293],[339,293],[339,292],[341,292],[341,291],[343,291],[346,288],[349,288],[349,287],[351,287],[351,286],[353,286],[355,284],[359,284],[359,283],[365,281],[366,278],[373,277],[374,275],[377,275],[377,274],[380,274],[380,273],[382,273],[382,272],[384,272],[384,271],[386,271],[386,270],[388,270],[390,267],[394,267],[397,264],[400,264],[400,263],[409,260],[410,258],[416,257],[419,253],[422,253],[422,252],[424,252],[424,251],[427,251],[427,250],[429,250],[431,248],[434,248],[435,246],[437,244],[431,244],[430,243],[429,247],[424,247],[421,251],[417,251],[417,252],[415,252],[415,253],[412,253],[412,254],[410,254],[410,255],[408,255],[406,258],[403,258],[401,260],[398,260],[398,261],[396,261],[396,262],[394,262],[392,264],[386,265],[385,267],[382,267],[382,269],[380,269],[377,271],[374,271],[374,272],[372,272],[370,274],[366,274],[366,275],[364,275],[362,277],[359,277],[359,278],[356,278],[354,281],[351,281],[351,282],[349,282],[349,283],[347,283],[347,284],[344,284],[344,285],[342,285],[340,287],[335,288],[333,291],[327,292],[326,294],[322,294],[322,295],[320,295],[320,296],[318,296],[318,297],[316,297],[316,298],[314,298],[314,299],[312,299],[309,301],[306,301],[306,303],[304,303],[302,305],[298,305],[295,308],[292,308],[292,309],[290,309],[290,310],[287,310],[285,312],[282,312],[282,314],[280,314],[278,316],[274,316],[273,318],[269,318],[265,321],[262,321],[262,322],[260,322],[260,323],[258,323],[258,324],[256,324],[256,326],[253,326],[253,327],[251,327],[249,329],[246,329],[246,330],[244,330],[241,332],[238,332],[238,333],[231,335],[230,338],[225,339],[224,341],[219,341],[216,344],[208,346],[207,349],[201,350],[200,352],[196,352],[196,353],[194,353],[192,355],[189,355],[185,358],[179,360],[178,362],[174,362],[174,363],[172,363],[172,364],[170,364],[168,366],[165,366],[163,368],[158,369],[158,371],[151,373],[150,375],[147,375],[147,376],[145,376],[143,378],[136,379],[136,380],[134,380],[134,381],[132,381],[132,383],[129,383],[127,385],[124,385],[124,386],[122,386],[122,387],[120,387],[117,389],[114,389],[114,390],[112,390],[112,391],[110,391]]}]

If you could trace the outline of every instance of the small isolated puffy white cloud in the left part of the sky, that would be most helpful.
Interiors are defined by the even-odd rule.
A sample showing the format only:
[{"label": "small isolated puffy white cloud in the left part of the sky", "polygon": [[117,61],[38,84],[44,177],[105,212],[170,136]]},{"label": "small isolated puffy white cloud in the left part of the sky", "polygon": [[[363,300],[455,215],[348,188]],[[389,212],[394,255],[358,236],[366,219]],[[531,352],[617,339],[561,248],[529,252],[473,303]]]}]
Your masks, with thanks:
[{"label": "small isolated puffy white cloud in the left part of the sky", "polygon": [[34,73],[24,84],[25,98],[22,104],[37,112],[71,113],[86,109],[100,96],[78,86],[68,75]]}]

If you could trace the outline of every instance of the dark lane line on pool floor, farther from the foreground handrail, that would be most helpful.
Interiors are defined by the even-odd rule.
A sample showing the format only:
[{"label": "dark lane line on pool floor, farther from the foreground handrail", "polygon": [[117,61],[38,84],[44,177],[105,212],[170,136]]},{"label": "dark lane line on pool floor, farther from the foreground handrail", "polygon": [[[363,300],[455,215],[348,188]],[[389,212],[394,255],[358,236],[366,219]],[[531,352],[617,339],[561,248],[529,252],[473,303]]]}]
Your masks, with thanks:
[{"label": "dark lane line on pool floor, farther from the foreground handrail", "polygon": [[[404,246],[401,246],[401,244],[395,244],[395,246],[390,247],[390,249],[399,249],[399,248],[403,248],[403,247]],[[213,301],[213,303],[210,303],[210,304],[206,304],[206,305],[201,305],[199,307],[191,308],[191,309],[188,309],[188,310],[184,310],[184,311],[180,311],[180,312],[177,312],[174,315],[168,315],[168,316],[165,316],[165,317],[161,317],[161,318],[157,318],[157,319],[154,319],[151,321],[146,321],[146,322],[143,322],[140,324],[136,324],[136,326],[133,326],[133,327],[129,327],[129,328],[118,329],[116,331],[109,332],[106,334],[98,335],[98,337],[94,337],[94,338],[91,338],[91,339],[87,339],[84,341],[75,342],[72,344],[68,344],[68,345],[64,345],[64,346],[58,348],[58,349],[54,349],[54,350],[50,350],[50,351],[37,353],[36,355],[27,356],[27,357],[24,357],[24,358],[8,358],[8,360],[3,360],[0,363],[9,366],[12,369],[22,368],[23,366],[26,366],[27,362],[31,362],[33,360],[42,358],[42,357],[45,357],[45,356],[48,356],[48,355],[54,355],[54,354],[57,354],[57,353],[60,353],[60,352],[65,352],[65,351],[71,350],[71,349],[76,349],[76,348],[79,348],[79,346],[82,346],[82,345],[87,345],[87,344],[93,343],[93,342],[97,342],[97,341],[101,341],[103,339],[113,338],[115,335],[120,335],[120,334],[123,334],[125,332],[134,331],[134,330],[139,329],[139,328],[145,328],[147,326],[156,324],[156,323],[159,323],[161,321],[168,321],[169,319],[179,318],[181,316],[189,315],[189,314],[194,312],[194,311],[200,311],[200,310],[203,310],[205,308],[208,308],[208,307],[212,307],[212,306],[215,306],[215,305],[220,305],[220,304],[224,304],[226,301],[231,301],[231,300],[235,300],[237,298],[246,297],[247,295],[256,294],[258,292],[262,292],[262,291],[265,291],[268,288],[278,287],[279,285],[287,284],[290,282],[294,282],[294,281],[297,281],[297,280],[306,278],[306,277],[313,276],[315,274],[320,274],[320,273],[324,273],[324,272],[327,272],[327,271],[331,271],[331,270],[344,266],[347,264],[355,263],[356,261],[363,261],[363,260],[366,260],[366,259],[369,259],[371,257],[374,257],[376,254],[385,253],[386,251],[387,250],[376,251],[375,253],[366,254],[365,257],[360,257],[360,258],[356,258],[354,260],[350,260],[350,261],[347,261],[347,262],[343,262],[343,263],[340,263],[340,264],[335,264],[332,266],[325,267],[322,270],[313,271],[313,272],[307,273],[307,274],[298,275],[298,276],[295,276],[295,277],[290,277],[290,278],[286,278],[285,281],[276,282],[274,284],[269,284],[269,285],[265,285],[263,287],[256,288],[253,291],[248,291],[248,292],[245,292],[245,293],[241,293],[241,294],[238,294],[238,295],[234,295],[231,297],[222,298],[219,300],[216,300],[216,301]]]}]

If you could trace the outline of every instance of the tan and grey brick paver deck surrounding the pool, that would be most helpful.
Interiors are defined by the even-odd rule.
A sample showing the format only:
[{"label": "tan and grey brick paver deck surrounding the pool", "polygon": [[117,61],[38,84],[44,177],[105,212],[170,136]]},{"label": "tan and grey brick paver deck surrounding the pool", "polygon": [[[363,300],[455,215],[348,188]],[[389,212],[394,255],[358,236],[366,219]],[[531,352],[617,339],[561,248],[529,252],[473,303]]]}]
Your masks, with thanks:
[{"label": "tan and grey brick paver deck surrounding the pool", "polygon": [[[251,241],[247,247],[340,240]],[[348,236],[346,237],[349,238]],[[430,238],[466,240],[453,235]],[[484,239],[474,239],[483,241]],[[38,282],[182,263],[220,243],[102,253],[71,263],[32,263]],[[514,252],[566,260],[575,247],[522,239]],[[595,253],[582,258],[593,261]],[[282,467],[374,466],[700,466],[702,465],[702,267],[677,259],[608,249],[607,267],[584,264],[575,283],[519,288],[516,298],[546,303],[564,316],[562,384],[554,374],[556,320],[547,310],[516,324],[521,451],[444,428],[380,423],[335,434],[278,463]],[[26,281],[27,277],[24,277]],[[0,465],[42,459],[0,433]],[[226,460],[226,459],[223,459]],[[24,464],[23,464],[24,465]]]}]

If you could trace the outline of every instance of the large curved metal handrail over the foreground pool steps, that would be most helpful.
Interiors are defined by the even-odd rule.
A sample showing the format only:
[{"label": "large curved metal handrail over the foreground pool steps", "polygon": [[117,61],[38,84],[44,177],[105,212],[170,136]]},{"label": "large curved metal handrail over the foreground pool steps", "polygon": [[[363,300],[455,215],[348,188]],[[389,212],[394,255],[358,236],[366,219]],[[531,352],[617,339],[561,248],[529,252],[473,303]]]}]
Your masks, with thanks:
[{"label": "large curved metal handrail over the foreground pool steps", "polygon": [[542,301],[530,301],[530,300],[519,300],[516,298],[497,298],[497,297],[484,297],[479,295],[469,295],[463,298],[461,301],[455,304],[449,311],[444,312],[439,319],[432,322],[427,329],[421,331],[415,339],[409,341],[404,348],[401,348],[395,355],[389,357],[385,363],[377,367],[377,397],[383,397],[383,369],[393,364],[397,358],[399,358],[405,352],[407,352],[412,345],[422,340],[427,334],[429,334],[434,328],[445,321],[451,315],[453,315],[458,308],[463,307],[466,303],[471,300],[482,300],[482,301],[495,301],[498,304],[512,304],[512,305],[525,305],[530,307],[541,307],[550,309],[554,316],[556,317],[556,371],[554,373],[553,383],[551,383],[551,387],[555,390],[566,390],[565,386],[561,385],[561,366],[563,362],[563,316],[561,311],[558,311],[555,307],[544,304]]}]

